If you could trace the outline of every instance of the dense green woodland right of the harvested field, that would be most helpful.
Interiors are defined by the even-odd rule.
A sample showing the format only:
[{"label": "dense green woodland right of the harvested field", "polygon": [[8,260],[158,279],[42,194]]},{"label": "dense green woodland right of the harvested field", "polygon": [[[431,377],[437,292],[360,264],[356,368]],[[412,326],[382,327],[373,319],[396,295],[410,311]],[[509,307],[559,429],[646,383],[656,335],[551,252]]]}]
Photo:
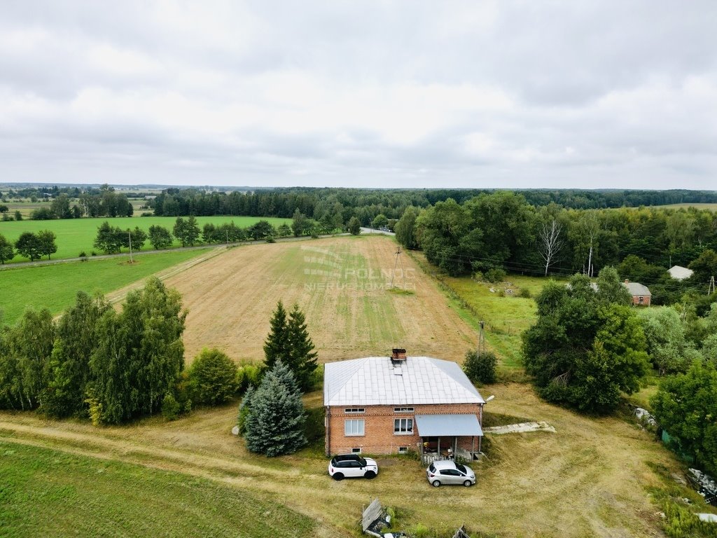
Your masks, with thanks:
[{"label": "dense green woodland right of the harvested field", "polygon": [[[706,209],[564,209],[535,207],[521,194],[481,194],[407,207],[397,240],[420,248],[450,275],[490,270],[534,275],[597,275],[612,265],[622,278],[650,286],[655,303],[674,303],[690,289],[707,290],[717,273],[717,217]],[[679,282],[671,265],[692,268]]]}]

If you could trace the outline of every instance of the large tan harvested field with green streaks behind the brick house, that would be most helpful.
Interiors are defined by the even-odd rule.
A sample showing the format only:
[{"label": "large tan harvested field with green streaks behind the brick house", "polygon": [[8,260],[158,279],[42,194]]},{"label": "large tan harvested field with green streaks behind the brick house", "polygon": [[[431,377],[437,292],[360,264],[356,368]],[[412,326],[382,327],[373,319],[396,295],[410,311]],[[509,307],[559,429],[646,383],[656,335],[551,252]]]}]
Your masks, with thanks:
[{"label": "large tan harvested field with green streaks behind the brick house", "polygon": [[189,309],[186,359],[216,346],[235,360],[262,360],[277,301],[304,311],[320,362],[409,354],[460,360],[475,332],[414,262],[402,256],[389,290],[396,243],[333,237],[229,249],[166,280]]}]

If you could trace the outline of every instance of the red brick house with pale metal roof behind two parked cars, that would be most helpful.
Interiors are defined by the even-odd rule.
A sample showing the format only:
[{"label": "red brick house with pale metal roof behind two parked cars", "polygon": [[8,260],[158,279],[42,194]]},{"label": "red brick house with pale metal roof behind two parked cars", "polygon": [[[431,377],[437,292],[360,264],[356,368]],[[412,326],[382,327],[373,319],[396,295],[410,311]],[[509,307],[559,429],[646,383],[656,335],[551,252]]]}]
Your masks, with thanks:
[{"label": "red brick house with pale metal roof behind two parked cars", "polygon": [[455,362],[365,357],[324,365],[326,455],[480,452],[485,400]]}]

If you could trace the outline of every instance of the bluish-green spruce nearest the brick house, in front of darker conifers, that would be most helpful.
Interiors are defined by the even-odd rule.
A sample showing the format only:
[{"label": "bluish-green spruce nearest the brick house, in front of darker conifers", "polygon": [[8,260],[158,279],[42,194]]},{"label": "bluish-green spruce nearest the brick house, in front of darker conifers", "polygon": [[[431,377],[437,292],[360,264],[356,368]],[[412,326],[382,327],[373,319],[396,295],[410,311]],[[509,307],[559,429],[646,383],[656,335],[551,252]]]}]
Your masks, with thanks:
[{"label": "bluish-green spruce nearest the brick house, in front of darker conifers", "polygon": [[248,402],[247,448],[273,458],[306,445],[305,414],[293,374],[277,361]]}]

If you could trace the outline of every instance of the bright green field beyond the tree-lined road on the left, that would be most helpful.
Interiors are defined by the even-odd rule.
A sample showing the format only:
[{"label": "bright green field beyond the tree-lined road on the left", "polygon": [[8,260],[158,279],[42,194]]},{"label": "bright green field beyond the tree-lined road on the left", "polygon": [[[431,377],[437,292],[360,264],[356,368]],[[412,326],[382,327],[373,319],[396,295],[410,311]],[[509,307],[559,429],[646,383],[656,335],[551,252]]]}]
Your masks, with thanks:
[{"label": "bright green field beyond the tree-lined road on the left", "polygon": [[[105,222],[110,222],[110,225],[119,227],[123,230],[126,228],[140,227],[142,230],[149,230],[150,226],[163,226],[170,232],[176,222],[176,217],[140,217],[140,218],[114,218],[110,219],[107,217],[99,219],[67,219],[67,220],[21,220],[11,222],[0,222],[0,235],[4,235],[7,240],[14,242],[22,232],[38,232],[39,230],[52,230],[57,235],[57,253],[52,255],[52,259],[57,258],[77,258],[81,252],[90,255],[92,250],[95,250],[98,254],[103,254],[100,250],[95,249],[93,243],[95,237],[97,237],[97,229],[100,225]],[[259,220],[267,220],[274,227],[277,227],[284,222],[287,224],[291,223],[291,219],[276,219],[276,218],[263,218],[263,217],[197,217],[196,222],[199,224],[199,228],[204,226],[207,222],[212,222],[214,225],[222,225],[224,222],[232,222],[239,227],[249,227]],[[175,242],[176,246],[181,246],[179,242]],[[151,250],[152,245],[146,242],[143,250]],[[14,262],[27,261],[27,258],[22,258],[16,255],[13,258]]]}]

